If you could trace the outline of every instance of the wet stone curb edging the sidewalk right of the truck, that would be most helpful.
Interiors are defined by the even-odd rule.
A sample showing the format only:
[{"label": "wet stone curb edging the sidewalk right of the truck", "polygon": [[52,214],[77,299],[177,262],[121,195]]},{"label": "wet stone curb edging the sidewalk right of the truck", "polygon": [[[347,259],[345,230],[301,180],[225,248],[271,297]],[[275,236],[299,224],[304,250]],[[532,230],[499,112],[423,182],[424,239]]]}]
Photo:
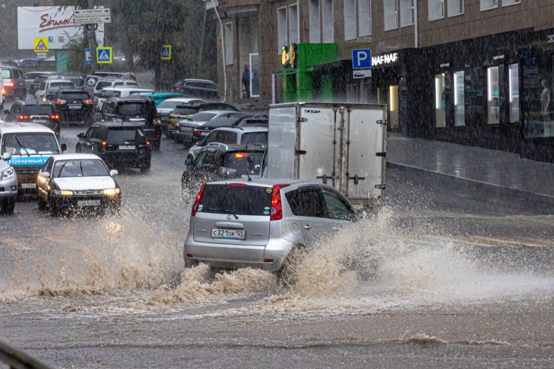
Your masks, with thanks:
[{"label": "wet stone curb edging the sidewalk right of the truck", "polygon": [[513,202],[516,201],[520,202],[522,206],[533,206],[537,208],[537,210],[542,210],[548,214],[554,214],[554,197],[550,195],[499,186],[494,183],[457,177],[453,174],[435,172],[434,170],[407,166],[405,164],[393,163],[390,161],[386,162],[386,168],[404,172],[408,179],[417,180],[424,178],[426,182],[431,185],[435,184],[437,186],[453,188],[454,190],[468,190],[471,192],[473,198],[481,201],[509,201],[509,203],[513,205],[515,205]]}]

